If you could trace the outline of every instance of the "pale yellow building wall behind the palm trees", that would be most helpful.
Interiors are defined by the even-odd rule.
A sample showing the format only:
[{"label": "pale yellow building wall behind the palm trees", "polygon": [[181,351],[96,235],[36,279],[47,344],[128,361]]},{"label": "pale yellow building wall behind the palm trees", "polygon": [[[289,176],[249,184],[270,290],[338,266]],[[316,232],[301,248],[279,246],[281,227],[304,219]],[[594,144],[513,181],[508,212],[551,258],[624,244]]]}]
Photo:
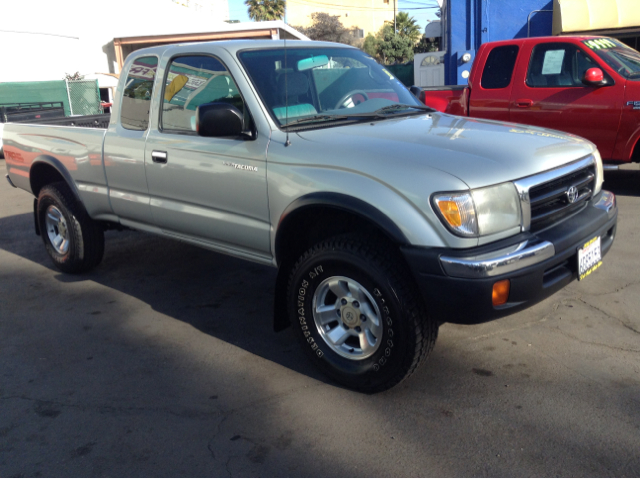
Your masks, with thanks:
[{"label": "pale yellow building wall behind the palm trees", "polygon": [[358,27],[366,37],[375,35],[384,22],[393,23],[393,5],[393,0],[287,0],[286,21],[294,27],[308,27],[311,14],[323,12],[338,15],[345,27]]}]

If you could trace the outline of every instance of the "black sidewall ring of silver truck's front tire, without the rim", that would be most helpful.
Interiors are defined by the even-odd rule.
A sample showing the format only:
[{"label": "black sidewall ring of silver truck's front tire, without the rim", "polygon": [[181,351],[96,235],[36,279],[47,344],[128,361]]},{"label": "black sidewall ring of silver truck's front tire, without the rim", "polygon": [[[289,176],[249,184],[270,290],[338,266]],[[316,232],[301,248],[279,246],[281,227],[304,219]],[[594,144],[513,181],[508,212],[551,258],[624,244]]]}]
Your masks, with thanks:
[{"label": "black sidewall ring of silver truck's front tire, without the rim", "polygon": [[[313,319],[313,296],[322,281],[345,276],[360,283],[374,298],[382,316],[383,334],[375,353],[352,360],[333,351],[320,335]],[[320,250],[298,263],[288,291],[289,315],[295,334],[318,366],[338,382],[355,389],[386,389],[409,369],[413,356],[415,329],[401,320],[404,316],[393,285],[375,262],[366,262],[347,250]],[[413,333],[413,337],[412,337]],[[413,352],[413,351],[411,351]],[[397,379],[400,378],[400,379]]]}]

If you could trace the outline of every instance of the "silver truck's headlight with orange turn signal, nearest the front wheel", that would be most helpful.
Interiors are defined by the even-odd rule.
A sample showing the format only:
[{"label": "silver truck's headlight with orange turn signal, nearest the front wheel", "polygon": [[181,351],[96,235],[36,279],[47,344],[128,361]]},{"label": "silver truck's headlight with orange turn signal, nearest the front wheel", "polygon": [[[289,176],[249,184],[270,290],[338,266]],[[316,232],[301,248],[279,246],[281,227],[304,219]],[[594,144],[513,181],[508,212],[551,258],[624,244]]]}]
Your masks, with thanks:
[{"label": "silver truck's headlight with orange turn signal, nearest the front wheel", "polygon": [[521,225],[520,200],[513,183],[437,193],[432,201],[442,222],[458,236],[486,236]]}]

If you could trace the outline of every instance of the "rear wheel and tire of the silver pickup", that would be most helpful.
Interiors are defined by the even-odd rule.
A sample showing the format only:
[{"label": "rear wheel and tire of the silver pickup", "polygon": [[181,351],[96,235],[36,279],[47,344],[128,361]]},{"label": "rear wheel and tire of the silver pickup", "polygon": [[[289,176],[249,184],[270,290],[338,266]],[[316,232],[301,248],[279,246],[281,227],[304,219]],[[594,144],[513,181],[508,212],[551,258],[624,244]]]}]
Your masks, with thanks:
[{"label": "rear wheel and tire of the silver pickup", "polygon": [[53,264],[64,273],[84,273],[104,255],[104,231],[64,182],[44,186],[38,195],[38,226]]}]

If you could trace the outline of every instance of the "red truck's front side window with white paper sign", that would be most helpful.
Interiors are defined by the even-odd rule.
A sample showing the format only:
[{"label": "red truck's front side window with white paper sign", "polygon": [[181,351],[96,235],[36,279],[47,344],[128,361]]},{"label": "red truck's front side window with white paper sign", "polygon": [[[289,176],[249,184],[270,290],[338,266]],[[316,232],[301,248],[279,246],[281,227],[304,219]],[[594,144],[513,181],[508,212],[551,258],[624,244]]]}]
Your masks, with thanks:
[{"label": "red truck's front side window with white paper sign", "polygon": [[529,61],[527,85],[533,88],[582,87],[582,78],[596,63],[569,43],[536,45]]}]

